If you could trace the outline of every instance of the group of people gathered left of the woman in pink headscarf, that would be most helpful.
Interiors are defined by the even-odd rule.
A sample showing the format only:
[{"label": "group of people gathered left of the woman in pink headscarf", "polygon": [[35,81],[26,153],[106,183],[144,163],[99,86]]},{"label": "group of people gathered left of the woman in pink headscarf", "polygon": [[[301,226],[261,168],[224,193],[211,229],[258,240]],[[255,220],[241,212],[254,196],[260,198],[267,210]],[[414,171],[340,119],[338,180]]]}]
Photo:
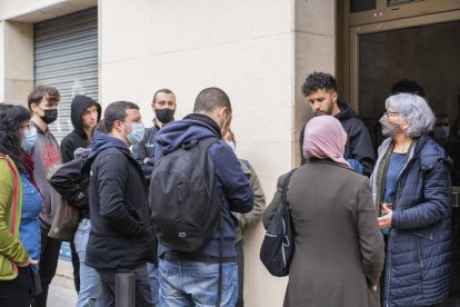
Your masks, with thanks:
[{"label": "group of people gathered left of the woman in pink headscarf", "polygon": [[[38,86],[29,109],[0,105],[0,305],[47,305],[61,246],[49,234],[68,202],[79,216],[71,240],[77,306],[116,306],[117,275],[127,271],[134,275],[136,306],[243,306],[243,231],[261,218],[266,198],[252,166],[234,155],[227,93],[204,89],[193,113],[174,121],[174,93],[158,90],[152,128],[133,102],[110,103],[101,120],[101,106],[77,95],[73,131],[60,146],[48,127],[59,101],[56,88]],[[197,252],[182,252],[154,234],[154,156],[209,137],[223,230]]]}]

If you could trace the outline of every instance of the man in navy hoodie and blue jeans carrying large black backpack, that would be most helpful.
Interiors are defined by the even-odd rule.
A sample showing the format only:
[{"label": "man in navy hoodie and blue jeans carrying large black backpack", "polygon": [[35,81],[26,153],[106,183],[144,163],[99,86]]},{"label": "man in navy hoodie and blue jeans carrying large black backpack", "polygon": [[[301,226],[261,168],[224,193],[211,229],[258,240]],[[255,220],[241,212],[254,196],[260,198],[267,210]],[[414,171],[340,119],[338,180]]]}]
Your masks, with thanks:
[{"label": "man in navy hoodie and blue jeans carrying large black backpack", "polygon": [[[216,138],[208,147],[213,162],[214,182],[222,200],[222,229],[217,229],[210,241],[194,252],[183,252],[158,244],[160,306],[214,306],[221,288],[220,306],[234,306],[238,274],[234,239],[237,225],[230,211],[251,211],[253,195],[233,150],[221,140],[231,122],[230,99],[218,88],[202,90],[193,113],[164,126],[157,133],[154,159],[166,156],[187,143]],[[150,205],[152,199],[150,186]],[[220,206],[220,204],[216,204]],[[154,206],[153,206],[154,208]],[[154,215],[156,212],[153,212]],[[222,242],[220,234],[222,232]],[[220,252],[222,258],[220,258]],[[222,285],[219,283],[219,261],[222,263]]]}]

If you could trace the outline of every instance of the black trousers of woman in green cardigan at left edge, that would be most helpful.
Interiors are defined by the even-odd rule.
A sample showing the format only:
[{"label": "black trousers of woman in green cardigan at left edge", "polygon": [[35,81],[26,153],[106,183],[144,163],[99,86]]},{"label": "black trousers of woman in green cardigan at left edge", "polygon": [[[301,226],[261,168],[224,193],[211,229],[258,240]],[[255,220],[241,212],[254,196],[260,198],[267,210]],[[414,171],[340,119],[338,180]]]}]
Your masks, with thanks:
[{"label": "black trousers of woman in green cardigan at left edge", "polygon": [[18,267],[18,277],[0,281],[1,307],[29,307],[31,285],[30,267]]}]

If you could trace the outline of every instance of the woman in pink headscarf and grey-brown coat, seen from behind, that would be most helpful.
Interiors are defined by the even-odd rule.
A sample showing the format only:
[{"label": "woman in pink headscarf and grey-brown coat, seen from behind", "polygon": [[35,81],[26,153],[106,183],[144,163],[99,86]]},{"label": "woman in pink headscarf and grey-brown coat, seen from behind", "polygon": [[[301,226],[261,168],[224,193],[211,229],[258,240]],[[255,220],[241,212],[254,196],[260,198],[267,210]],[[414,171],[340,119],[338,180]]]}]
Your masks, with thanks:
[{"label": "woman in pink headscarf and grey-brown coat, seen from behind", "polygon": [[[376,221],[369,179],[343,159],[347,141],[331,116],[306,127],[303,156],[288,186],[294,254],[283,306],[379,306],[383,238]],[[263,215],[268,227],[280,202],[286,175]]]}]

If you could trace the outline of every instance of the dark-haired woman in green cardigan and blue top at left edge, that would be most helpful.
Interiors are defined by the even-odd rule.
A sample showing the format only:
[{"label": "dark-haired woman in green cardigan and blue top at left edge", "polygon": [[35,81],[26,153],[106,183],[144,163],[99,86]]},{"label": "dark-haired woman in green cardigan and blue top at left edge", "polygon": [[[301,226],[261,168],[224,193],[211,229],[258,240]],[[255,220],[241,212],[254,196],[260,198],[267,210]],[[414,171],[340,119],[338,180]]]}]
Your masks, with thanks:
[{"label": "dark-haired woman in green cardigan and blue top at left edge", "polygon": [[24,150],[37,139],[29,120],[24,107],[0,103],[0,306],[29,307],[38,291],[42,197]]}]

